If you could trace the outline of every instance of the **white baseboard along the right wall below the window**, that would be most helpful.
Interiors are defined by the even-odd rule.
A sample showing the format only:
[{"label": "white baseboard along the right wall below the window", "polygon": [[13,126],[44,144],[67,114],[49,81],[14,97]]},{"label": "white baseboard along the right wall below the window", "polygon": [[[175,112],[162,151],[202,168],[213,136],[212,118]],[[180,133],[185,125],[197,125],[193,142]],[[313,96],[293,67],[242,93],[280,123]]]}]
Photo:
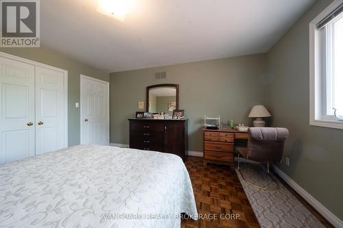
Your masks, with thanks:
[{"label": "white baseboard along the right wall below the window", "polygon": [[307,203],[309,203],[312,207],[314,207],[324,218],[326,218],[334,227],[343,227],[343,221],[340,220],[337,216],[332,214],[327,207],[324,207],[319,201],[314,199],[314,197],[306,192],[305,189],[301,188],[301,186],[296,183],[292,178],[288,177],[283,171],[278,168],[277,166],[273,166],[274,171],[277,175],[279,175],[289,186],[291,186],[301,197],[303,197]]}]

